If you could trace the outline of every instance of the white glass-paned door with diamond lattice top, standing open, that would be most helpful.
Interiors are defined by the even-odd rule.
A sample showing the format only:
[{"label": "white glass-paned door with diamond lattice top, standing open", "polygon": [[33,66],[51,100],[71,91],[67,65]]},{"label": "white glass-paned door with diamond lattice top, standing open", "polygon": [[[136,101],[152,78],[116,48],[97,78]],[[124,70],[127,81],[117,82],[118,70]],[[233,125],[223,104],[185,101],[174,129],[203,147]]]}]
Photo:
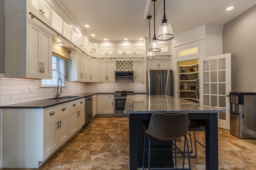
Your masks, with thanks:
[{"label": "white glass-paned door with diamond lattice top, standing open", "polygon": [[218,127],[230,129],[231,54],[200,59],[200,103],[226,109],[218,114]]}]

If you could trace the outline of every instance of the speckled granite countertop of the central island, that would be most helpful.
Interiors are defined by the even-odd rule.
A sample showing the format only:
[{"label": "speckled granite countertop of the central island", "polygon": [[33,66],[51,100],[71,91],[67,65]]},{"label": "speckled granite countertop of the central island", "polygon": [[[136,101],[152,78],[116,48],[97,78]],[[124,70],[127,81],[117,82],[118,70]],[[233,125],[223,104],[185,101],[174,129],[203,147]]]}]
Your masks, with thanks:
[{"label": "speckled granite countertop of the central island", "polygon": [[124,113],[225,113],[225,109],[166,95],[127,96]]}]

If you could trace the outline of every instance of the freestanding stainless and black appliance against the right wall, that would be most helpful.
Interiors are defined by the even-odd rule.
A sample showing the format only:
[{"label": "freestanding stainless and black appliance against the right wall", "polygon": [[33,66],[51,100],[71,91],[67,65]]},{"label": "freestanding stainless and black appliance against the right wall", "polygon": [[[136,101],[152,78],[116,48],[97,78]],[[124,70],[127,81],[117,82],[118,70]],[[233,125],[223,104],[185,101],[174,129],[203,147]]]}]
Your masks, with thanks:
[{"label": "freestanding stainless and black appliance against the right wall", "polygon": [[230,92],[230,134],[256,138],[256,93]]}]

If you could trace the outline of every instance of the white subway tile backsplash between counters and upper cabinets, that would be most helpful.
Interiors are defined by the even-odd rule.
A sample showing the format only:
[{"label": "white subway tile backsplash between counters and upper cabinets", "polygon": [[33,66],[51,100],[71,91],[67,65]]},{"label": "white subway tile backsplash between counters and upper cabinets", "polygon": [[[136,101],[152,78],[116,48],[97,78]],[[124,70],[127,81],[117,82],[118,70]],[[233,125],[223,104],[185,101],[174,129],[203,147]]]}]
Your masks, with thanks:
[{"label": "white subway tile backsplash between counters and upper cabinets", "polygon": [[[5,78],[0,75],[0,106],[19,104],[56,97],[56,87],[40,87],[40,80],[23,78]],[[22,92],[26,86],[26,92]],[[29,86],[32,92],[29,92]],[[144,92],[144,82],[132,82],[131,79],[116,80],[116,82],[66,82],[62,88],[61,96],[68,96],[84,92],[115,92],[128,90]]]}]

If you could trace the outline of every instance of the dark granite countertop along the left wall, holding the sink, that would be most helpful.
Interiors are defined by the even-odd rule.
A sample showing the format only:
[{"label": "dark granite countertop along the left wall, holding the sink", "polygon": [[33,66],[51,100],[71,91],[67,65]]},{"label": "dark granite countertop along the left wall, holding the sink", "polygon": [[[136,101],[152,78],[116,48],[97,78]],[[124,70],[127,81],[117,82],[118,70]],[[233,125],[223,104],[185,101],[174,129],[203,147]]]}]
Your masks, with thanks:
[{"label": "dark granite countertop along the left wall, holding the sink", "polygon": [[[68,96],[77,96],[77,98],[72,98],[72,99],[45,99],[45,100],[38,100],[38,101],[33,101],[33,102],[0,106],[0,108],[47,108],[47,107],[51,107],[51,106],[55,106],[55,105],[59,105],[59,104],[64,104],[64,103],[70,102],[72,100],[92,96],[94,94],[114,94],[114,92],[80,93],[80,94],[68,95]],[[62,97],[65,97],[65,96],[60,96],[60,98],[62,98]]]}]

